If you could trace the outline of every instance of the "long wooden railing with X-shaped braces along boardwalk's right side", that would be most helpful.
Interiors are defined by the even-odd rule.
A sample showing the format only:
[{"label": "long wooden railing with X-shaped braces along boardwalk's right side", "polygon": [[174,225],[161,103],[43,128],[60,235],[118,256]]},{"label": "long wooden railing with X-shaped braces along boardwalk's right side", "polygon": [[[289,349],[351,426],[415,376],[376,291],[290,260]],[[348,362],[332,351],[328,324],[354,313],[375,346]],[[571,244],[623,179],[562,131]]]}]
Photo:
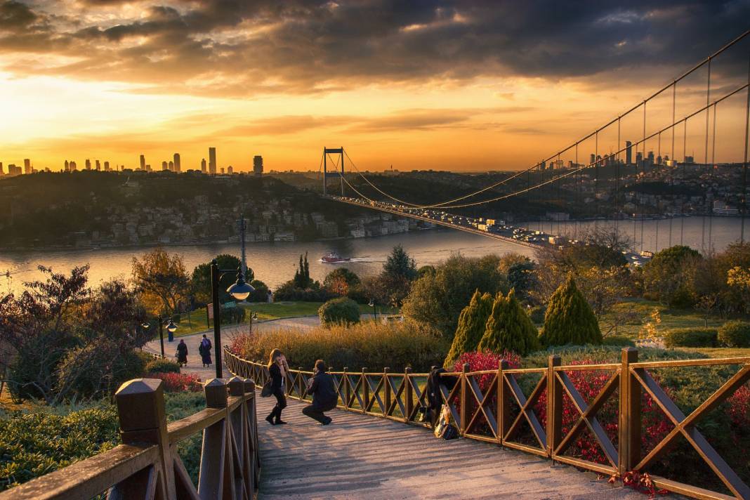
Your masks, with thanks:
[{"label": "long wooden railing with X-shaped braces along boardwalk's right side", "polygon": [[[226,347],[224,356],[226,367],[235,375],[254,379],[259,384],[269,377],[263,364],[239,358]],[[469,365],[464,365],[461,372],[444,374],[453,377],[455,385],[451,389],[441,385],[440,390],[461,436],[493,442],[605,475],[622,477],[634,470],[649,472],[655,462],[668,453],[675,440],[684,436],[732,496],[651,475],[655,487],[699,499],[750,499],[750,487],[696,427],[701,417],[750,380],[750,358],[638,362],[637,357],[637,349],[625,348],[621,361],[610,364],[561,366],[559,356],[553,355],[544,368],[510,369],[505,361],[501,361],[497,370],[469,372]],[[739,370],[690,415],[682,413],[667,391],[649,373],[649,370],[660,368],[719,365],[739,365]],[[571,381],[571,373],[577,371],[595,372],[604,378],[598,394],[589,402]],[[380,373],[368,373],[365,368],[360,372],[350,372],[344,368],[343,371],[329,373],[335,380],[339,408],[430,427],[429,422],[418,421],[420,407],[428,406],[427,373],[411,373],[409,368],[404,373],[391,373],[388,368]],[[305,387],[312,375],[312,372],[302,368],[290,370],[287,373],[287,395],[294,399],[305,399]],[[522,382],[524,378],[531,378],[531,383],[529,380]],[[523,388],[526,388],[525,391]],[[610,404],[616,403],[617,445],[597,419],[598,412],[615,393],[617,397]],[[664,412],[673,429],[660,442],[652,443],[651,450],[643,454],[641,401],[646,394]],[[563,398],[572,402],[577,413],[574,422],[565,428],[565,433],[562,425]],[[537,415],[540,408],[544,408],[546,413],[544,421]],[[520,433],[522,427],[529,429],[525,439]],[[565,454],[586,430],[601,448],[604,456],[601,463]]]}]

